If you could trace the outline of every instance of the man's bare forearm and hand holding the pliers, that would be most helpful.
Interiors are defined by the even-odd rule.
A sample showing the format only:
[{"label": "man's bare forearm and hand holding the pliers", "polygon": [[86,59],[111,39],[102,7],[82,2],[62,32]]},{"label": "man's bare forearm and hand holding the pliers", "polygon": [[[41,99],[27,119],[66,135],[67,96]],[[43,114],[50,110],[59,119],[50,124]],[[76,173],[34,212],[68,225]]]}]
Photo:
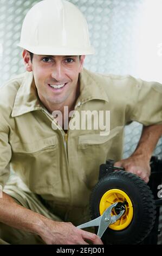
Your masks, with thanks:
[{"label": "man's bare forearm and hand holding the pliers", "polygon": [[56,222],[28,210],[4,192],[0,198],[0,222],[40,235],[48,245],[87,245],[85,240],[102,245],[97,235],[78,229],[72,223]]}]

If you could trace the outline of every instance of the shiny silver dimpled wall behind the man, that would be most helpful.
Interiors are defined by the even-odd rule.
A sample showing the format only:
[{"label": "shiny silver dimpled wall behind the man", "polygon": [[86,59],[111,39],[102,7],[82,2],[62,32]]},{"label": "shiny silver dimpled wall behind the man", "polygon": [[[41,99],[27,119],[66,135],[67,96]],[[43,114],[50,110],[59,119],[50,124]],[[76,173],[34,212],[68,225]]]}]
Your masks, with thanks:
[{"label": "shiny silver dimpled wall behind the man", "polygon": [[[142,68],[145,65],[140,66],[142,56],[139,56],[140,42],[144,39],[142,35],[145,38],[147,36],[146,29],[141,30],[141,17],[146,17],[145,22],[147,23],[145,14],[148,1],[70,0],[85,14],[90,39],[96,50],[95,56],[86,58],[85,67],[87,69],[104,74],[131,74],[135,77],[141,77],[144,74],[145,80],[152,78],[149,69],[148,72],[142,73]],[[37,2],[39,1],[0,0],[0,86],[15,74],[24,72],[21,49],[17,47],[17,43],[20,39],[24,16]],[[158,0],[153,2],[154,5],[158,4]],[[157,27],[152,28],[153,31],[155,29]],[[162,36],[158,40],[162,41]],[[157,44],[161,41],[157,41]],[[156,46],[154,45],[154,47]],[[149,59],[150,63],[151,61]],[[158,76],[155,73],[153,80],[162,82],[162,77],[161,81],[159,77],[161,75]],[[128,157],[134,151],[140,138],[141,129],[142,127],[138,123],[132,123],[126,127],[124,157]],[[154,155],[162,157],[162,139],[159,140]],[[159,238],[159,243],[162,243],[162,236]]]}]

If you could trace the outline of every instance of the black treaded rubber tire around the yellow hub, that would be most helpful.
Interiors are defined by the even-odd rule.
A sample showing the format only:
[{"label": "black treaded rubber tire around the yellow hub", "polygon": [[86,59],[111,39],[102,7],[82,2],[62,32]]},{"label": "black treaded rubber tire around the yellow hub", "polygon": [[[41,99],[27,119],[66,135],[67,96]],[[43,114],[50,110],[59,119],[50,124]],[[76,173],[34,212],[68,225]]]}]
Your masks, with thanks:
[{"label": "black treaded rubber tire around the yellow hub", "polygon": [[[118,188],[124,191],[133,204],[133,219],[127,228],[112,230],[107,228],[102,236],[106,245],[134,245],[140,243],[151,232],[156,214],[152,191],[139,176],[117,170],[107,174],[94,187],[90,198],[92,220],[100,216],[100,200],[106,191]],[[97,231],[97,229],[96,229]]]}]

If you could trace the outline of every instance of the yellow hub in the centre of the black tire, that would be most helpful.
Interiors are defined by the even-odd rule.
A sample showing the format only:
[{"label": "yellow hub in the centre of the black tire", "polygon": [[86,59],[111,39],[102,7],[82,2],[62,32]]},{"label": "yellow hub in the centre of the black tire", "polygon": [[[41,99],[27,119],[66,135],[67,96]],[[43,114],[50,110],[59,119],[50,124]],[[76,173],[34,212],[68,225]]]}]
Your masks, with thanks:
[{"label": "yellow hub in the centre of the black tire", "polygon": [[[100,215],[112,204],[114,203],[124,203],[125,204],[125,213],[121,216],[121,218],[116,221],[114,224],[109,225],[109,228],[113,230],[122,230],[128,227],[133,218],[133,205],[131,199],[128,195],[117,188],[113,188],[112,190],[108,190],[105,194],[103,194],[100,200]],[[126,202],[126,203],[125,203]],[[113,215],[118,215],[115,212],[115,208],[112,210]]]}]

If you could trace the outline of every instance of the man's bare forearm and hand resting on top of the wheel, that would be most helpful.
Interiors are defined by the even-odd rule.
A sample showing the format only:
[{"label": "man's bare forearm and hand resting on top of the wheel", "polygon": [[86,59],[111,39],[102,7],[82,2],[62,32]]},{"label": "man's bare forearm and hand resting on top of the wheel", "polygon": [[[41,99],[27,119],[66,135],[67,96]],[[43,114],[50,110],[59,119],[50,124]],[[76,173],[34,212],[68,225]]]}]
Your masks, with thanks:
[{"label": "man's bare forearm and hand resting on top of the wheel", "polygon": [[162,125],[144,126],[140,141],[134,153],[127,159],[115,163],[128,172],[137,174],[148,182],[150,176],[150,159],[159,138],[162,135]]}]

